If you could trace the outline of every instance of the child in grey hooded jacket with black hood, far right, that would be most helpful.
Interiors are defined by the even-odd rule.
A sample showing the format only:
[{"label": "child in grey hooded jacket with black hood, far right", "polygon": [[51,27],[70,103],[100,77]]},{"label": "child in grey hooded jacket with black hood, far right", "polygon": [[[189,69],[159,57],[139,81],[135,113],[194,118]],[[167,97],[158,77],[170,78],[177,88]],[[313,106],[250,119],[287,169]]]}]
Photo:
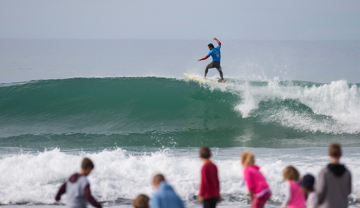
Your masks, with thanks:
[{"label": "child in grey hooded jacket with black hood, far right", "polygon": [[319,208],[346,208],[347,197],[351,193],[351,174],[339,163],[341,148],[337,143],[330,144],[330,164],[320,171],[315,184]]}]

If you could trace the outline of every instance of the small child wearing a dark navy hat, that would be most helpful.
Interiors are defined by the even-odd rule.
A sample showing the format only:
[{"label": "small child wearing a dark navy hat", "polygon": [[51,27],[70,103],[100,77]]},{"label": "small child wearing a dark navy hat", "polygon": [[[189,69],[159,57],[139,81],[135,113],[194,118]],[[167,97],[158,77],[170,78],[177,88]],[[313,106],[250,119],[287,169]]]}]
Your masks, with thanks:
[{"label": "small child wearing a dark navy hat", "polygon": [[302,187],[302,193],[306,196],[307,208],[318,208],[318,196],[314,191],[315,178],[312,175],[305,175],[299,185]]}]

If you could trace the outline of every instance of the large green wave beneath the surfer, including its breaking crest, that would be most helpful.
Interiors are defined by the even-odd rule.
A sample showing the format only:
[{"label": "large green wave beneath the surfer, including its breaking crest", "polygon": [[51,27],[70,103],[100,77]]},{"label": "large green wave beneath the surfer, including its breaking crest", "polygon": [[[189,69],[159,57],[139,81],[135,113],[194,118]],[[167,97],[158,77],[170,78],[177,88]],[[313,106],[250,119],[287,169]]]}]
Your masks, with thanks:
[{"label": "large green wave beneath the surfer, including its breaking crest", "polygon": [[336,137],[358,144],[360,84],[230,82],[122,77],[1,84],[0,137],[8,139],[0,143],[303,147]]}]

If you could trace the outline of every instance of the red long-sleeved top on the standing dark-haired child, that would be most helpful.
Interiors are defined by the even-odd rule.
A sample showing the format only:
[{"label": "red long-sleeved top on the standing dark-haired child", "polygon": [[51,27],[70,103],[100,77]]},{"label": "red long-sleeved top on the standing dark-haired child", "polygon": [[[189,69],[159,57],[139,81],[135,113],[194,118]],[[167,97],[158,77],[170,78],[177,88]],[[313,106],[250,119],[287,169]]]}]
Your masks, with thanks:
[{"label": "red long-sleeved top on the standing dark-haired child", "polygon": [[199,195],[206,199],[220,197],[220,184],[217,177],[216,165],[212,162],[207,162],[201,169],[201,182],[199,188]]}]

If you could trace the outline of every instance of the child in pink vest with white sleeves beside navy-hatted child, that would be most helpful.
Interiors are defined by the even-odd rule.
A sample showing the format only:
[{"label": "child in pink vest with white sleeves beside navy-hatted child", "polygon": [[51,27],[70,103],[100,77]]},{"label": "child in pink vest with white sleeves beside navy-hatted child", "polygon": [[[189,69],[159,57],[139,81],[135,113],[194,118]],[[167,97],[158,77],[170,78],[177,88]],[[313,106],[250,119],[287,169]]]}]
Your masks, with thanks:
[{"label": "child in pink vest with white sleeves beside navy-hatted child", "polygon": [[284,170],[284,179],[288,180],[287,190],[284,202],[281,208],[306,208],[305,194],[301,191],[301,186],[298,184],[300,178],[299,172],[293,166],[287,166]]}]

